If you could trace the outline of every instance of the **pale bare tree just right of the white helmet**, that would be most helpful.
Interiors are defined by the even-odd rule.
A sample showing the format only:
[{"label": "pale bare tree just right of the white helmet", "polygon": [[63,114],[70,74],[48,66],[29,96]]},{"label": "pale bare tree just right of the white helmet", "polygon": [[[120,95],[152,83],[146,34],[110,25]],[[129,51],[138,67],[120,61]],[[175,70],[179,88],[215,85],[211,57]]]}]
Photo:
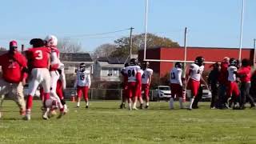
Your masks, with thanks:
[{"label": "pale bare tree just right of the white helmet", "polygon": [[78,53],[81,49],[81,44],[71,41],[69,38],[58,40],[58,50],[61,53]]}]

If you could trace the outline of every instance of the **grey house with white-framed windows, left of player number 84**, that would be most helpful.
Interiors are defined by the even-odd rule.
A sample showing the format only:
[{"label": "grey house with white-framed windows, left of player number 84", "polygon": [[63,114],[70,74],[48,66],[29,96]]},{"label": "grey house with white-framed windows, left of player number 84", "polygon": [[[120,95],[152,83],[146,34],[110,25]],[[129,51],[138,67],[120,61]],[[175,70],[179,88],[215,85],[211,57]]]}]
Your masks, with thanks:
[{"label": "grey house with white-framed windows, left of player number 84", "polygon": [[120,82],[120,71],[128,58],[98,58],[94,62],[94,80],[106,82]]}]

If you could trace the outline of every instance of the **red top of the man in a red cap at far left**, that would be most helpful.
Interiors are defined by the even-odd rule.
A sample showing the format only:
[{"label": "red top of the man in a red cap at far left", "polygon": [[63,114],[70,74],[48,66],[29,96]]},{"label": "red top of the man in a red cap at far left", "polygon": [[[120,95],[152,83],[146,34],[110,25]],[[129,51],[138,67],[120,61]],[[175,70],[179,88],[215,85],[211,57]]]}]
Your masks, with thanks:
[{"label": "red top of the man in a red cap at far left", "polygon": [[2,54],[0,66],[2,66],[2,78],[6,82],[18,83],[26,77],[26,74],[22,73],[22,68],[26,67],[26,58],[19,52]]}]

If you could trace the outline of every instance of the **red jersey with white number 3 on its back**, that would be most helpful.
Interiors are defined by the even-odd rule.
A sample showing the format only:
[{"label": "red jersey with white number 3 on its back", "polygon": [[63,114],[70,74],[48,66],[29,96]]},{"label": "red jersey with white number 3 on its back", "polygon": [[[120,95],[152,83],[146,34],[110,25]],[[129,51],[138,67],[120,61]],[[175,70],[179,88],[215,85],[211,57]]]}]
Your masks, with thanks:
[{"label": "red jersey with white number 3 on its back", "polygon": [[30,48],[27,50],[30,65],[33,68],[48,68],[50,49],[47,47]]}]

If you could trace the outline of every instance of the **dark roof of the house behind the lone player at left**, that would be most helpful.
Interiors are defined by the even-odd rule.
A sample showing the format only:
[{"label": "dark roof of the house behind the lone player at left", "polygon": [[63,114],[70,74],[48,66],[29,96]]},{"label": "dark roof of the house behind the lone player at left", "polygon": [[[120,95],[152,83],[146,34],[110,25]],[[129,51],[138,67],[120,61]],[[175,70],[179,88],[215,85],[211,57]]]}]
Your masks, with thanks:
[{"label": "dark roof of the house behind the lone player at left", "polygon": [[67,62],[93,62],[88,53],[61,53],[60,59]]}]

